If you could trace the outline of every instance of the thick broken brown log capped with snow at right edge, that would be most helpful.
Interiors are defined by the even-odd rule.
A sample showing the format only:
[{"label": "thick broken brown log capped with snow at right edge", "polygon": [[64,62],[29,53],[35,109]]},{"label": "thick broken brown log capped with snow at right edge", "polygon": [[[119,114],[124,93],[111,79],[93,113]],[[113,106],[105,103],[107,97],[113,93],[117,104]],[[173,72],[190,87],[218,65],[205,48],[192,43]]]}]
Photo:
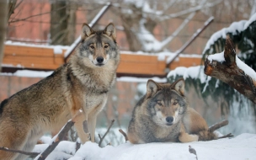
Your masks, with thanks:
[{"label": "thick broken brown log capped with snow at right edge", "polygon": [[206,75],[227,83],[256,104],[256,72],[236,56],[229,36],[224,52],[206,58],[204,71]]}]

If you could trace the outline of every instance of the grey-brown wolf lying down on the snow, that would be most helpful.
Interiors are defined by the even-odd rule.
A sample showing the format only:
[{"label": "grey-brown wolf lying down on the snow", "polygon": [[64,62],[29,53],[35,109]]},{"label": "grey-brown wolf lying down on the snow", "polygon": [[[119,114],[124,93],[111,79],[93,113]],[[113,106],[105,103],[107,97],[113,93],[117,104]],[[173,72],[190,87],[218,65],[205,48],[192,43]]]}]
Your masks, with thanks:
[{"label": "grey-brown wolf lying down on the snow", "polygon": [[205,120],[189,107],[183,79],[172,84],[148,80],[147,93],[133,110],[127,136],[131,143],[216,139]]}]

